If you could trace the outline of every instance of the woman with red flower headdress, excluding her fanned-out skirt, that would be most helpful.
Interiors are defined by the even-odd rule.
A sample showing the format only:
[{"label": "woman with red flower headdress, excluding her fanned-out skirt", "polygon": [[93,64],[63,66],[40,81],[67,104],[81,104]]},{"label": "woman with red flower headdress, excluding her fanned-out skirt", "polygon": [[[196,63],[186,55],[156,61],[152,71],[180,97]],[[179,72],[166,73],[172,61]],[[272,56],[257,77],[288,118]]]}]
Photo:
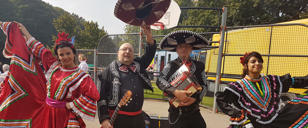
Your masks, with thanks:
[{"label": "woman with red flower headdress, excluding her fanned-out skirt", "polygon": [[[27,39],[27,46],[34,56],[42,59],[47,71],[46,103],[36,112],[33,126],[39,128],[85,128],[83,119],[94,121],[96,102],[99,92],[91,76],[76,63],[76,49],[67,38],[68,34],[59,33],[55,41],[54,57],[50,50],[35,40],[26,28],[17,22]],[[82,118],[81,118],[82,117]]]}]

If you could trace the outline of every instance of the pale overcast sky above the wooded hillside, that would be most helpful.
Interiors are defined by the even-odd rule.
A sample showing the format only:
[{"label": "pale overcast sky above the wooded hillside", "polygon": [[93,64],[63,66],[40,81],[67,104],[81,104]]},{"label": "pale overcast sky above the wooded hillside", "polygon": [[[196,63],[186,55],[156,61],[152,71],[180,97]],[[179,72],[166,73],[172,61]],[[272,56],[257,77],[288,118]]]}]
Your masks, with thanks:
[{"label": "pale overcast sky above the wooded hillside", "polygon": [[108,34],[125,33],[125,23],[113,15],[117,0],[43,0],[52,6],[60,7],[69,13],[78,14],[86,21],[98,23],[99,28],[104,26]]}]

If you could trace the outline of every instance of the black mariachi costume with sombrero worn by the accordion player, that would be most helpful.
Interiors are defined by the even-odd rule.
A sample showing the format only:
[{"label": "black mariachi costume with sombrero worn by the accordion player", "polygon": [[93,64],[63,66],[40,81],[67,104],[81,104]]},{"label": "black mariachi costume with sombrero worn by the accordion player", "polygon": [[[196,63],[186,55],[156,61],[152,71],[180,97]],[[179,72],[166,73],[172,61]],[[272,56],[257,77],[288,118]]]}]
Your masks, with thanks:
[{"label": "black mariachi costume with sombrero worn by the accordion player", "polygon": [[[165,51],[175,52],[176,46],[181,43],[192,45],[193,50],[204,48],[209,45],[209,41],[197,33],[190,31],[175,31],[164,37],[164,39],[160,42],[159,47]],[[193,98],[196,99],[196,102],[188,106],[175,108],[169,103],[170,107],[168,111],[170,127],[206,127],[205,121],[202,118],[199,109],[199,103],[207,90],[204,63],[193,60],[190,57],[188,57],[187,60],[182,60],[180,57],[175,60],[171,60],[166,64],[162,73],[158,76],[156,85],[160,88],[160,90],[164,91],[164,93],[169,93],[169,95],[172,95],[172,92],[176,90],[176,88],[171,86],[171,84],[167,81],[170,76],[183,64],[188,64],[190,73],[192,73],[192,76],[195,77],[197,82],[200,84],[202,91],[201,93],[193,96]]]}]

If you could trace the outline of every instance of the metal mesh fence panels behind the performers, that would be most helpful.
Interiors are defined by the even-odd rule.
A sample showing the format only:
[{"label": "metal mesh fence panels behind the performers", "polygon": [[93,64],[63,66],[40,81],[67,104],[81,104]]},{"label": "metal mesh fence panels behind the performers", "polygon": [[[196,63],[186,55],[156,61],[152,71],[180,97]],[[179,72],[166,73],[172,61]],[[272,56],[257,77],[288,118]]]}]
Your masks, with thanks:
[{"label": "metal mesh fence panels behind the performers", "polygon": [[[308,66],[306,63],[308,61],[308,51],[306,50],[308,49],[307,27],[308,25],[303,24],[227,27],[225,44],[224,47],[222,47],[224,53],[221,64],[222,76],[217,91],[224,91],[226,85],[233,82],[235,79],[240,79],[243,67],[239,63],[239,58],[243,56],[245,52],[256,51],[262,54],[264,63],[261,75],[272,74],[282,76],[286,73],[290,73],[291,76],[306,76],[308,74],[306,70]],[[217,33],[199,34],[203,36],[210,35],[214,39]],[[154,39],[159,42],[161,37],[164,36],[165,35],[154,36]],[[100,73],[101,69],[106,68],[113,60],[117,60],[117,51],[123,43],[132,44],[135,51],[134,57],[137,57],[139,42],[139,33],[104,36],[99,42],[97,49],[96,73]],[[210,42],[212,46],[193,51],[191,57],[194,60],[205,63],[208,90],[200,104],[209,108],[215,108],[214,93],[217,65],[219,66],[219,42]],[[89,64],[90,69],[89,74],[92,76],[92,79],[94,79],[95,50],[77,50],[77,55],[78,54],[86,56],[87,64]],[[150,64],[153,70],[152,72],[148,72],[154,92],[144,90],[144,98],[166,98],[163,92],[156,86],[156,77],[163,70],[167,62],[176,59],[177,56],[176,52],[161,51],[157,48],[155,57]],[[91,64],[93,64],[93,66],[91,66]],[[229,78],[233,78],[233,80]],[[288,93],[283,93],[280,97],[282,101],[289,101],[307,89],[308,88],[290,88]]]}]

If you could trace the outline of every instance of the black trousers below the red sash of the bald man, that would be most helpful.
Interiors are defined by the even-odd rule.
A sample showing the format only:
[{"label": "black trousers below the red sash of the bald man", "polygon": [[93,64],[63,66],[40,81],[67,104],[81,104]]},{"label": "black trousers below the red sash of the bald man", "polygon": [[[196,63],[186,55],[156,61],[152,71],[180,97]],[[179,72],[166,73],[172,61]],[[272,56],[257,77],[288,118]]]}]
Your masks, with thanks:
[{"label": "black trousers below the red sash of the bald man", "polygon": [[145,128],[144,117],[141,114],[118,114],[113,123],[114,128]]}]

